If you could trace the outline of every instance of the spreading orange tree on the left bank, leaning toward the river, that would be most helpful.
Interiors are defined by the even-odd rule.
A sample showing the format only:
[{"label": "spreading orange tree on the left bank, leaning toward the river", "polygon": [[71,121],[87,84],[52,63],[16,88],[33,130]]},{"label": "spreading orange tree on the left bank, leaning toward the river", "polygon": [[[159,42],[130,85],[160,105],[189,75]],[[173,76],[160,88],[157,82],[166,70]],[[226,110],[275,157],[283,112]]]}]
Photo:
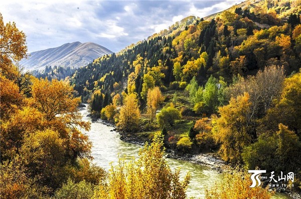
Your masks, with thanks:
[{"label": "spreading orange tree on the left bank, leaning toward the river", "polygon": [[90,129],[90,123],[81,120],[79,103],[80,98],[73,97],[73,88],[68,82],[34,80],[30,105],[43,114],[47,126],[68,140],[68,152],[72,158],[88,156],[91,148],[87,135],[77,129]]}]

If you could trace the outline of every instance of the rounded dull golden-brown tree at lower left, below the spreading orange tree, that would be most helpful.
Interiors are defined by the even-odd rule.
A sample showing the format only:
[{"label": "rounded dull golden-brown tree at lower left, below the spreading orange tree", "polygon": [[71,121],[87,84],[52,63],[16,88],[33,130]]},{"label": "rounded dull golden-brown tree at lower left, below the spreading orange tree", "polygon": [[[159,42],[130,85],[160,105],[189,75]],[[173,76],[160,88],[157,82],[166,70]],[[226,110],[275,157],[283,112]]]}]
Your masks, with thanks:
[{"label": "rounded dull golden-brown tree at lower left, below the spreading orange tree", "polygon": [[39,178],[42,185],[57,188],[64,179],[62,170],[66,148],[64,139],[57,131],[47,129],[31,133],[24,139],[20,154],[32,177]]}]

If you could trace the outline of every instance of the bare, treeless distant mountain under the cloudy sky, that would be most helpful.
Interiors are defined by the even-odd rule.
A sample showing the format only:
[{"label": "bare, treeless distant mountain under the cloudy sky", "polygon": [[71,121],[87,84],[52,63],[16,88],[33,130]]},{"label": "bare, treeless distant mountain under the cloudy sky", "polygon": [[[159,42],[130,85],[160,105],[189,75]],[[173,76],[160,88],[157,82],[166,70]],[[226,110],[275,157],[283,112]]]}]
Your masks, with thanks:
[{"label": "bare, treeless distant mountain under the cloudy sky", "polygon": [[46,66],[78,68],[111,53],[112,51],[107,48],[92,42],[73,42],[57,48],[30,53],[28,59],[21,60],[20,65],[24,67],[25,71],[40,70]]}]

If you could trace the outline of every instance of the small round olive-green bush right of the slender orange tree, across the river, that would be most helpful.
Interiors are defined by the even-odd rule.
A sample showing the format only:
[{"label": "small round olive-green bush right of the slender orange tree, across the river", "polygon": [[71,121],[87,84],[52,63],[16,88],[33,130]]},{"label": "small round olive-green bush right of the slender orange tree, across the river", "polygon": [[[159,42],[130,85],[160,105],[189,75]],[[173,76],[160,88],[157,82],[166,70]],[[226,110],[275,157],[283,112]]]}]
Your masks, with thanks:
[{"label": "small round olive-green bush right of the slender orange tree, across the river", "polygon": [[173,106],[163,108],[161,112],[157,115],[157,121],[159,125],[163,127],[173,126],[175,120],[181,119],[181,113],[178,109]]}]

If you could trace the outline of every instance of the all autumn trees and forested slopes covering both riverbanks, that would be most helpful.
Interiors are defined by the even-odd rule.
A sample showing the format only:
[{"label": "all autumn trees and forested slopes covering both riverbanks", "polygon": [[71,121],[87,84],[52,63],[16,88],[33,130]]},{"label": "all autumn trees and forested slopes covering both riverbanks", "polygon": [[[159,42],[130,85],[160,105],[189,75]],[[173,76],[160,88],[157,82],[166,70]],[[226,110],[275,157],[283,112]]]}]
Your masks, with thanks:
[{"label": "all autumn trees and forested slopes covering both riverbanks", "polygon": [[[299,1],[246,1],[189,17],[64,81],[23,73],[25,34],[0,15],[1,198],[186,198],[163,158],[216,151],[243,168],[295,173],[301,188]],[[91,163],[78,105],[125,136],[153,140],[109,172]],[[118,183],[116,183],[118,182]],[[270,198],[226,174],[206,198]]]}]

